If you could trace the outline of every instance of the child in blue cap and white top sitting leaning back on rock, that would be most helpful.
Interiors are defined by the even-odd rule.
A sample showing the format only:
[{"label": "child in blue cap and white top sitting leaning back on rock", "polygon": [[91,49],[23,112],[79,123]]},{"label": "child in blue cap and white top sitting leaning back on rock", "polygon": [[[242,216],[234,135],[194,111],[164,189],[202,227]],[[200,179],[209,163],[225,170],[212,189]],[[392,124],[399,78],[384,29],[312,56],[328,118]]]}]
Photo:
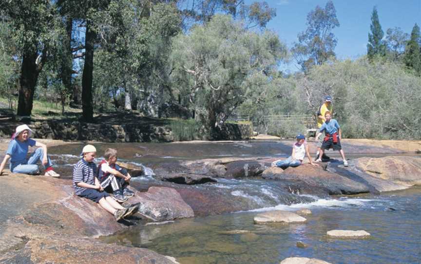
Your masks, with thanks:
[{"label": "child in blue cap and white top sitting leaning back on rock", "polygon": [[287,169],[288,167],[298,167],[303,163],[304,156],[307,155],[308,161],[311,165],[319,166],[311,161],[310,151],[308,151],[308,145],[306,137],[303,134],[297,135],[297,142],[292,145],[292,154],[286,160],[277,160],[272,163],[272,167],[279,167]]}]

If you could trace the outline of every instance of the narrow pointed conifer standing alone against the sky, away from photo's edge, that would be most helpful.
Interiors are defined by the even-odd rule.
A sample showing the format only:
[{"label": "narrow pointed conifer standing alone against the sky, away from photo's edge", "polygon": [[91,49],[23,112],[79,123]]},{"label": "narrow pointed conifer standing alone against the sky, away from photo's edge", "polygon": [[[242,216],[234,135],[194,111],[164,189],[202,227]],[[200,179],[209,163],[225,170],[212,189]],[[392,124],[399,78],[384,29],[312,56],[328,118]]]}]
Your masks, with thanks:
[{"label": "narrow pointed conifer standing alone against the sky, away from photo's edge", "polygon": [[379,16],[377,15],[377,8],[373,8],[371,14],[371,34],[368,33],[367,56],[372,59],[374,56],[385,56],[386,46],[383,41],[383,30],[380,25]]}]

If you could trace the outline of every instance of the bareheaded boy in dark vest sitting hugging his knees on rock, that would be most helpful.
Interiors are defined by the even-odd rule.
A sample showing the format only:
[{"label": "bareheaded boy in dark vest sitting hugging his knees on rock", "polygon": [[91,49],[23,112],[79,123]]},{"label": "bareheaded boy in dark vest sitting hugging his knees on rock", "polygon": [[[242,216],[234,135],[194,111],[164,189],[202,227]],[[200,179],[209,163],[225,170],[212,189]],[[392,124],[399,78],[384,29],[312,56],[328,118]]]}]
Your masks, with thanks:
[{"label": "bareheaded boy in dark vest sitting hugging his knees on rock", "polygon": [[121,168],[117,161],[117,151],[107,149],[104,153],[104,160],[98,167],[98,180],[107,192],[113,192],[117,202],[125,202],[134,195],[134,192],[127,189],[132,178],[126,169]]}]

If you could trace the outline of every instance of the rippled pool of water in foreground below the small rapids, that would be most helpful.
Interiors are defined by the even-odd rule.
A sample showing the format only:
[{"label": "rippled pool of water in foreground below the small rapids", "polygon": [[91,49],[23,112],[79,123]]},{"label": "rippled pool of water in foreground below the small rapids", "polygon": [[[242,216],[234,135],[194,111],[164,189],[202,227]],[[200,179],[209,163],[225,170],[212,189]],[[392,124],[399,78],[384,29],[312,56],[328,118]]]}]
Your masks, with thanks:
[{"label": "rippled pool of water in foreground below the small rapids", "polygon": [[[274,264],[291,256],[330,263],[420,263],[421,188],[336,201],[307,205],[313,214],[305,224],[254,225],[257,212],[240,212],[135,226],[101,239],[147,247],[182,264]],[[332,239],[325,235],[331,229],[364,229],[371,237]],[[237,231],[227,232],[232,230]],[[307,247],[298,247],[298,241]]]}]

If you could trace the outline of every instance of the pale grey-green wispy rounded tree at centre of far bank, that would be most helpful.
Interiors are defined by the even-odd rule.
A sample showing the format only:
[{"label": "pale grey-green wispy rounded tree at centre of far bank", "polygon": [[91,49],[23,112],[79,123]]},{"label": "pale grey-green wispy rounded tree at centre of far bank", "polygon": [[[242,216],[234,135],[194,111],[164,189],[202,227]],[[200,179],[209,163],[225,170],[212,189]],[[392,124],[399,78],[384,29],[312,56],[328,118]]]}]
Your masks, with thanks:
[{"label": "pale grey-green wispy rounded tree at centre of far bank", "polygon": [[209,138],[218,138],[222,125],[246,99],[270,83],[286,46],[273,32],[252,32],[230,16],[216,15],[195,25],[173,43],[173,78],[195,107]]}]

